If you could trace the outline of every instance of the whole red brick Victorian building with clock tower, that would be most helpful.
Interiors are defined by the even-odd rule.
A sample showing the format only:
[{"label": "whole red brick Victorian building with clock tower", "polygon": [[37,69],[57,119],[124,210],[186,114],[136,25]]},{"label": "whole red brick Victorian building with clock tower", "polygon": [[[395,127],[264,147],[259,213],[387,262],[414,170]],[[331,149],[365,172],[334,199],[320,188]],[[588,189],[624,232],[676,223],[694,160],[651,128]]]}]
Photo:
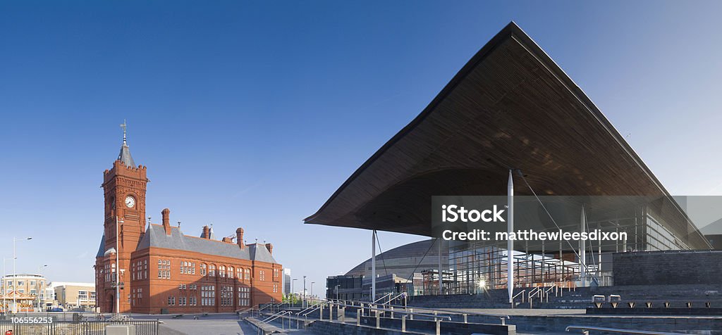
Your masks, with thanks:
[{"label": "whole red brick Victorian building with clock tower", "polygon": [[273,246],[245,244],[243,228],[236,229],[235,242],[216,240],[208,226],[200,237],[188,236],[180,224],[170,225],[168,208],[162,210],[161,225],[146,225],[146,171],[135,165],[123,130],[121,153],[103,173],[105,229],[95,259],[100,311],[232,312],[282,299],[282,267],[272,256]]}]

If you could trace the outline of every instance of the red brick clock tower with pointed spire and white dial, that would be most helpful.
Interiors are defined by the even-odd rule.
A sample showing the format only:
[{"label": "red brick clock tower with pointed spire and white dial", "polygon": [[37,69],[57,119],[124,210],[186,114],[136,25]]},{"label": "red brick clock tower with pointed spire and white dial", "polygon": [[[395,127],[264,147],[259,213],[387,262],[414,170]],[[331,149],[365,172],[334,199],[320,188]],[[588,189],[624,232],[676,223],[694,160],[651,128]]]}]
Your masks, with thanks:
[{"label": "red brick clock tower with pointed spire and white dial", "polygon": [[[103,312],[116,311],[116,287],[113,274],[120,271],[120,309],[121,313],[130,311],[128,295],[131,292],[130,266],[131,253],[136,250],[145,233],[145,192],[149,182],[146,167],[136,166],[131,157],[126,140],[126,124],[123,122],[123,145],[113,168],[103,172],[103,194],[105,195],[104,241],[105,253],[96,260],[96,269],[105,269],[110,276],[96,274],[98,303]],[[115,253],[118,253],[117,256]],[[118,264],[116,264],[116,258]],[[96,273],[98,273],[96,271]],[[106,273],[108,274],[108,273]],[[99,278],[100,277],[100,278]],[[108,280],[110,278],[110,280]]]}]

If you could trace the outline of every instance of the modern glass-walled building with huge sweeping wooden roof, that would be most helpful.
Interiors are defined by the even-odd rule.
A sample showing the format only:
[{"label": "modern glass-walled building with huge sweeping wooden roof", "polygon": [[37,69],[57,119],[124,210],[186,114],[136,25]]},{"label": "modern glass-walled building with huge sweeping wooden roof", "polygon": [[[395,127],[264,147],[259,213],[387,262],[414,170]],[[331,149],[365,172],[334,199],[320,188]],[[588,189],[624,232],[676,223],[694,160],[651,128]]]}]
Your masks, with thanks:
[{"label": "modern glass-walled building with huge sweeping wooden roof", "polygon": [[[508,241],[452,241],[448,268],[436,272],[444,273],[442,294],[612,285],[615,252],[711,249],[591,99],[513,23],[305,223],[441,238],[431,207],[440,195],[513,196],[515,207],[526,197],[554,230],[628,236],[601,245],[517,241],[513,251]],[[595,197],[624,206],[596,205]],[[573,215],[545,211],[555,201]]]}]

